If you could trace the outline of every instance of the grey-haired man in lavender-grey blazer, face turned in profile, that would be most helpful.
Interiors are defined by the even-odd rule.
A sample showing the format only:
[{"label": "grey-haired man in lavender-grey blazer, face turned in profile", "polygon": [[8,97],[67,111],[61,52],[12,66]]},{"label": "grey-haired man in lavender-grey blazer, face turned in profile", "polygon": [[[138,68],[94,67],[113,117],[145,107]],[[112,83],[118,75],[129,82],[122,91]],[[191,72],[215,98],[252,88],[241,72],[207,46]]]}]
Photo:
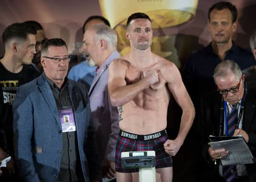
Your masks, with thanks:
[{"label": "grey-haired man in lavender-grey blazer, face turned in profile", "polygon": [[116,51],[117,35],[109,26],[96,24],[84,32],[83,52],[88,52],[99,67],[90,87],[89,97],[96,141],[102,160],[103,176],[115,176],[115,151],[119,133],[119,116],[108,95],[108,66],[119,53]]}]

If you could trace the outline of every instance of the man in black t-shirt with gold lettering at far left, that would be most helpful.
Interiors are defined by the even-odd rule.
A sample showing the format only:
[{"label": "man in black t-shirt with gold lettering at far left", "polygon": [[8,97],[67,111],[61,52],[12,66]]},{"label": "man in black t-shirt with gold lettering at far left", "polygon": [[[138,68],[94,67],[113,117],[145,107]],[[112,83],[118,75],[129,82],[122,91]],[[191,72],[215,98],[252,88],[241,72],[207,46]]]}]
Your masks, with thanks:
[{"label": "man in black t-shirt with gold lettering at far left", "polygon": [[[0,160],[14,157],[12,103],[17,87],[39,76],[31,66],[35,54],[35,33],[35,29],[24,23],[13,23],[3,32],[5,55],[0,59],[0,148],[3,150],[0,150]],[[13,159],[1,170],[1,181],[17,180]]]}]

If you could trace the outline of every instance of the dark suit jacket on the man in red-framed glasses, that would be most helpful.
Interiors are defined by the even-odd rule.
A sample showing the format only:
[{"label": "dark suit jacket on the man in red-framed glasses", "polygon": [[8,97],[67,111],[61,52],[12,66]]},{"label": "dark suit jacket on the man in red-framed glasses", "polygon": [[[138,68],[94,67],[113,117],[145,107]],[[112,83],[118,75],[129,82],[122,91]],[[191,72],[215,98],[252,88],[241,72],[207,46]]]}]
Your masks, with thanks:
[{"label": "dark suit jacket on the man in red-framed glasses", "polygon": [[[219,136],[223,133],[224,124],[224,110],[223,110],[222,95],[218,92],[210,92],[201,98],[200,121],[198,124],[198,131],[201,137],[201,151],[202,151],[202,173],[207,181],[218,181],[221,176],[218,173],[218,163],[214,165],[207,152],[209,145],[208,136]],[[256,90],[248,90],[244,100],[244,113],[242,121],[242,129],[248,134],[248,146],[256,156]],[[220,131],[220,124],[222,130]],[[246,169],[250,178],[250,182],[256,181],[256,165],[246,165]],[[204,172],[203,172],[204,171]]]}]

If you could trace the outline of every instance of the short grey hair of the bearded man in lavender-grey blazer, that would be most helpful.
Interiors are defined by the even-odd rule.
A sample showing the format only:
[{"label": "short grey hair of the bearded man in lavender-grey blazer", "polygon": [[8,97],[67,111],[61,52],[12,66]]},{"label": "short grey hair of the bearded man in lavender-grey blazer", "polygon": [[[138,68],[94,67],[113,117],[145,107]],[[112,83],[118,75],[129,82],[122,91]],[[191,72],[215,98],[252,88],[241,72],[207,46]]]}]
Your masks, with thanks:
[{"label": "short grey hair of the bearded man in lavender-grey blazer", "polygon": [[95,43],[99,43],[99,40],[104,39],[107,42],[107,45],[109,46],[109,49],[116,50],[117,46],[117,34],[116,32],[111,29],[109,26],[102,25],[102,24],[96,24],[88,27],[86,31],[94,30],[95,35]]}]

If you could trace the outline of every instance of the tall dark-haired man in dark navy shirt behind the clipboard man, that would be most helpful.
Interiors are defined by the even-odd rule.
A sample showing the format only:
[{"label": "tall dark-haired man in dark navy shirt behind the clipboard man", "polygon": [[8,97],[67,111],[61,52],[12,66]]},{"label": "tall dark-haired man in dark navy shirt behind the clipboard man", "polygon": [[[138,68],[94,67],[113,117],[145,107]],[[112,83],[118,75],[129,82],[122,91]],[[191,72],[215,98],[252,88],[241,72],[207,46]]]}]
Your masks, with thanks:
[{"label": "tall dark-haired man in dark navy shirt behind the clipboard man", "polygon": [[227,59],[235,61],[241,69],[255,64],[253,54],[232,41],[236,31],[236,6],[229,2],[216,3],[209,9],[208,19],[212,42],[192,54],[184,67],[184,84],[196,109],[201,95],[215,90],[212,75],[217,64]]}]

